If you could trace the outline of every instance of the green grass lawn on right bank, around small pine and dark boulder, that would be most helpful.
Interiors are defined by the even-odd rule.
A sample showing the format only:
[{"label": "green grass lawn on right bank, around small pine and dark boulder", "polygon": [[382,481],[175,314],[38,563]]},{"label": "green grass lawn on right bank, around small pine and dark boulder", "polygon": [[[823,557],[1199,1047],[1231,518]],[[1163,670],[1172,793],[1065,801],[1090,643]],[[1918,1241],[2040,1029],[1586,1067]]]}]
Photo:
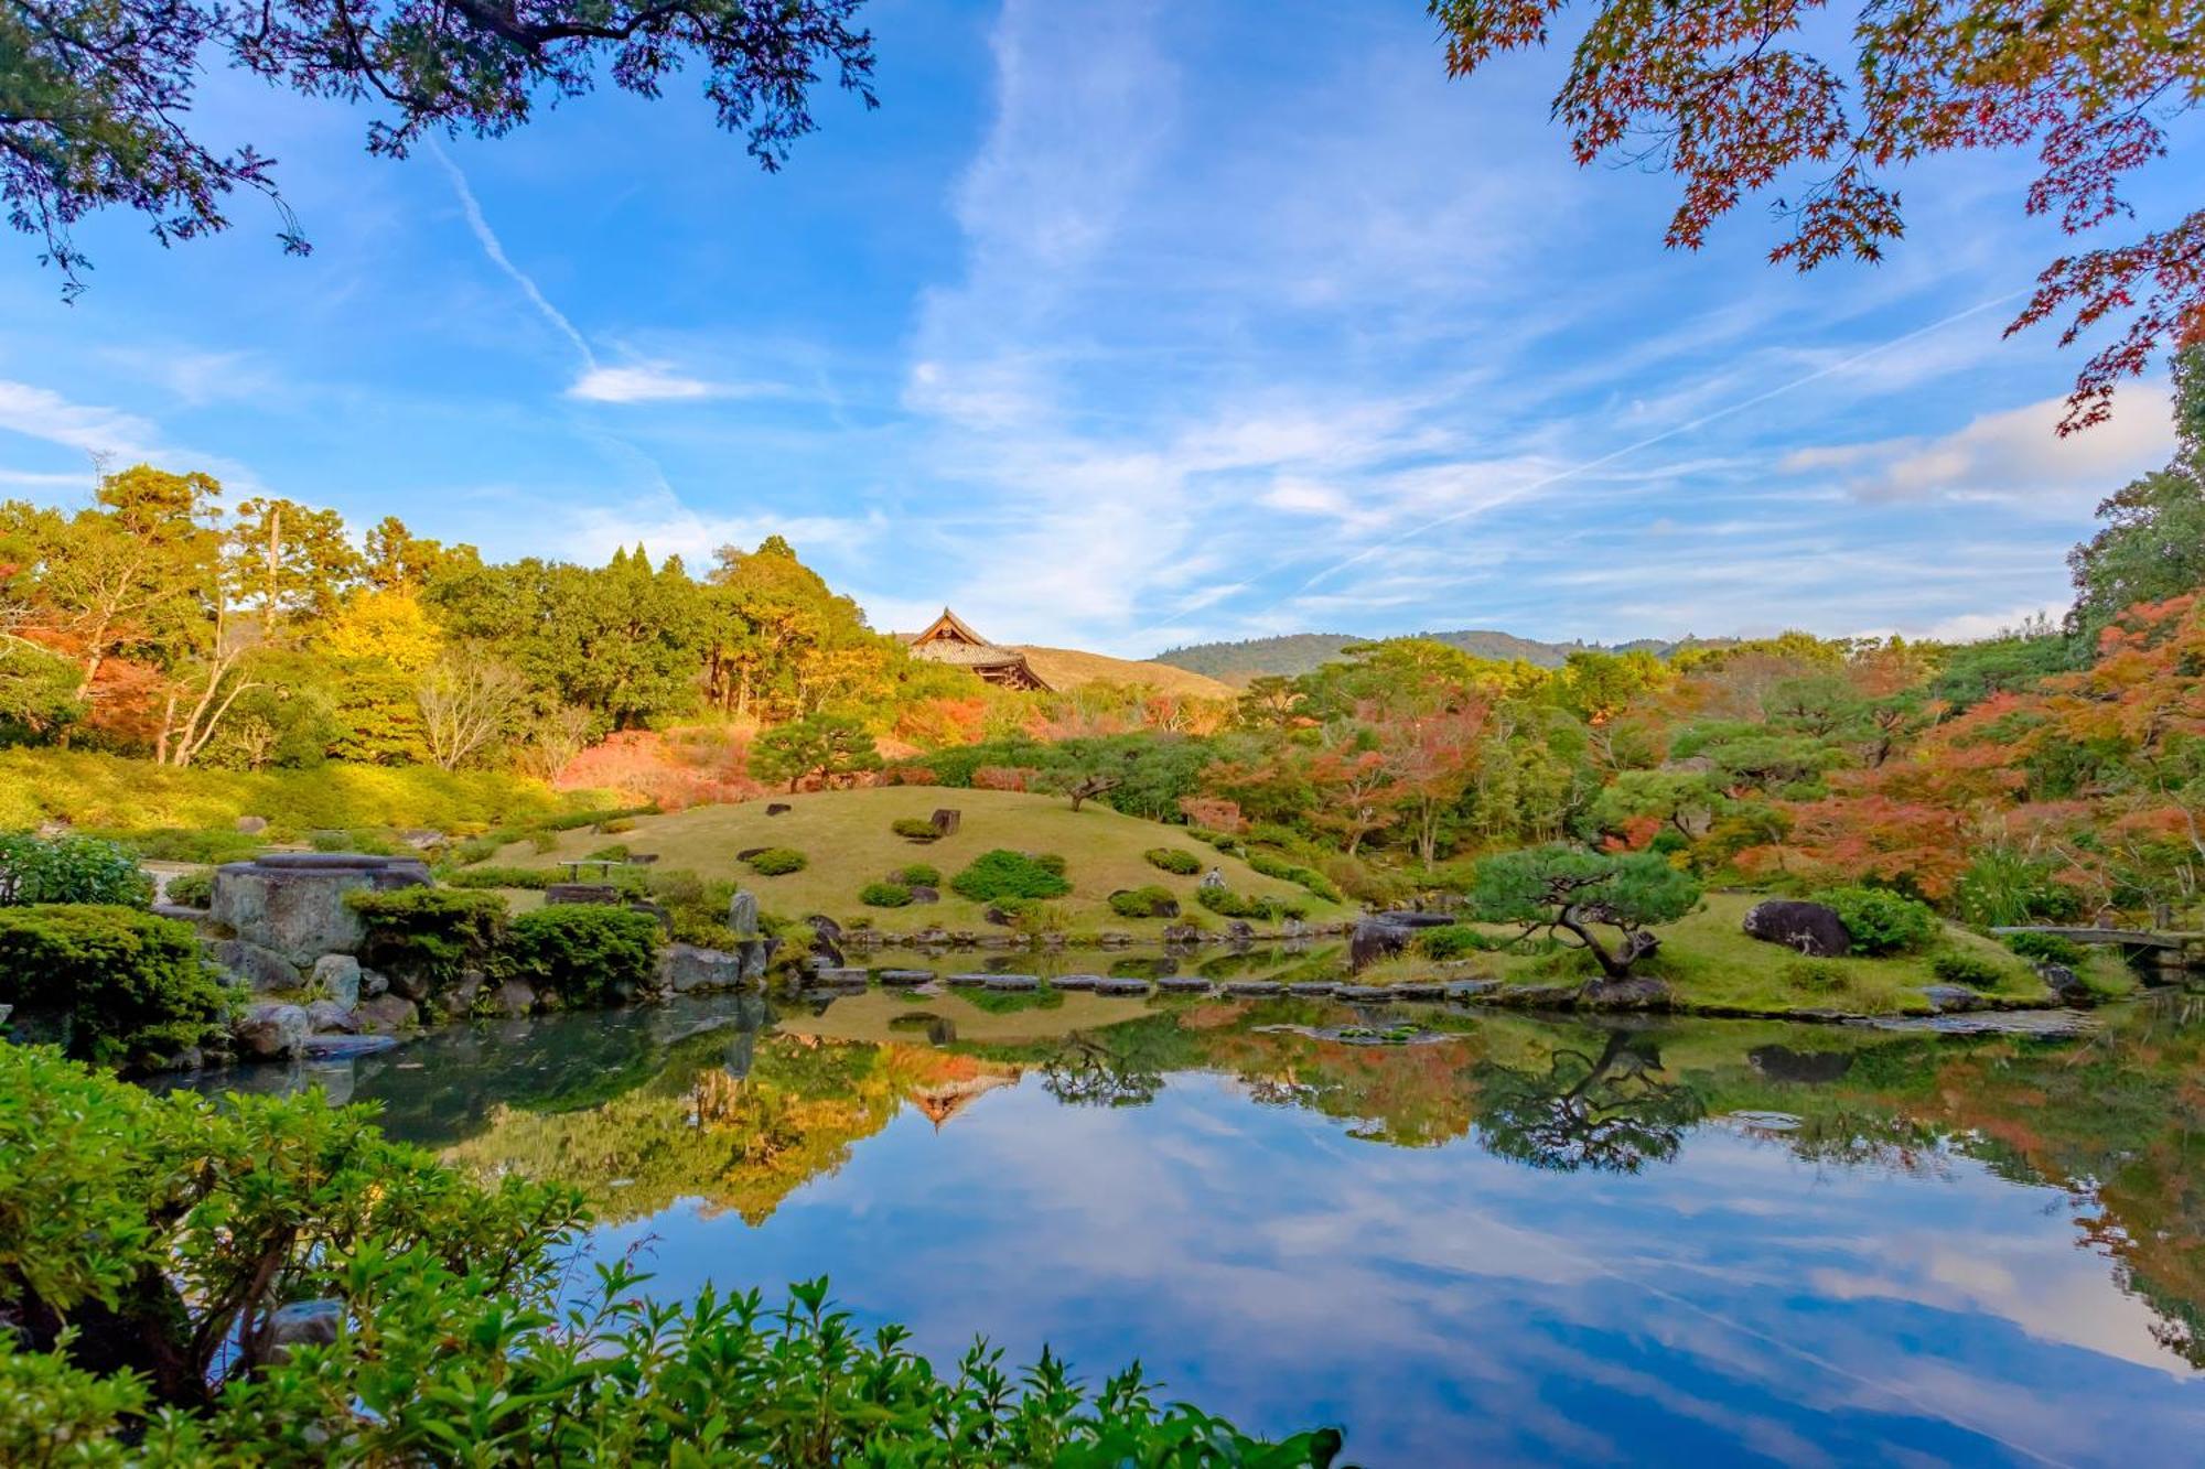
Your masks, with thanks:
[{"label": "green grass lawn on right bank, around small pine and dark boulder", "polygon": [[[1936,953],[1896,955],[1885,959],[1804,959],[1797,953],[1746,937],[1746,909],[1755,893],[1709,893],[1691,915],[1656,929],[1660,951],[1638,966],[1638,973],[1667,979],[1687,1006],[1740,1010],[1843,1010],[1850,1015],[1925,1012],[1925,984],[1943,984],[1932,968]],[[1515,929],[1477,924],[1495,937]],[[2000,979],[1984,995],[2044,1004],[2051,990],[2024,959],[2004,944],[1947,924],[1940,944],[1947,953],[1965,953],[1998,966]],[[1387,984],[1427,975],[1429,959],[1387,959],[1367,971],[1369,984]],[[1590,973],[1585,955],[1482,953],[1462,966],[1464,975],[1484,975],[1510,986],[1561,984]],[[2126,993],[2134,977],[2112,953],[2093,953],[2084,979],[2108,995]]]}]

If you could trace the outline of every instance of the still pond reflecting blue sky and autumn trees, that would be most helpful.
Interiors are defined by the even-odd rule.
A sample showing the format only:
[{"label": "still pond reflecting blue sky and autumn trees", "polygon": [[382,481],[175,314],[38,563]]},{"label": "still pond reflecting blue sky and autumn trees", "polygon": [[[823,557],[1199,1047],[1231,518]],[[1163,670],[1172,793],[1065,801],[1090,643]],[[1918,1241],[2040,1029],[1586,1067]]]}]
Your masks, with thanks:
[{"label": "still pond reflecting blue sky and autumn trees", "polygon": [[2086,1041],[1314,999],[759,997],[322,1083],[582,1187],[653,1290],[831,1275],[1363,1465],[2196,1462],[2205,1021]]}]

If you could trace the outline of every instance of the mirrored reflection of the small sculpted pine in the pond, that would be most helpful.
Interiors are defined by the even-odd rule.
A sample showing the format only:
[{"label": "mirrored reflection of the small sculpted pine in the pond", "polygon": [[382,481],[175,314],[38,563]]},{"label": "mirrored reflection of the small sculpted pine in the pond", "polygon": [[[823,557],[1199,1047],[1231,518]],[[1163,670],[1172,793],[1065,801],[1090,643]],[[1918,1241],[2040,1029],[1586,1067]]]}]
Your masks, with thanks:
[{"label": "mirrored reflection of the small sculpted pine in the pond", "polygon": [[1497,1158],[1574,1173],[1667,1162],[1707,1107],[1660,1076],[1652,1039],[1610,1030],[1599,1054],[1557,1050],[1544,1074],[1482,1065],[1477,1134]]}]

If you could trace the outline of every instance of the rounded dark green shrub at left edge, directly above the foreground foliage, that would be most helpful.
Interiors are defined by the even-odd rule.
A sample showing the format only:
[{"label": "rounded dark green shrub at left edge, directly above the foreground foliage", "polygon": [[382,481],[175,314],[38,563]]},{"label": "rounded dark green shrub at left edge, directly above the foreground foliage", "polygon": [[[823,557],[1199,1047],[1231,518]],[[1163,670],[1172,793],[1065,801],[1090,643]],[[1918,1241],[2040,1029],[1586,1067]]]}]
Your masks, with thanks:
[{"label": "rounded dark green shrub at left edge, directly above the foreground foliage", "polygon": [[0,1004],[64,1015],[71,1057],[123,1068],[205,1046],[229,1008],[192,924],[112,904],[0,909]]}]

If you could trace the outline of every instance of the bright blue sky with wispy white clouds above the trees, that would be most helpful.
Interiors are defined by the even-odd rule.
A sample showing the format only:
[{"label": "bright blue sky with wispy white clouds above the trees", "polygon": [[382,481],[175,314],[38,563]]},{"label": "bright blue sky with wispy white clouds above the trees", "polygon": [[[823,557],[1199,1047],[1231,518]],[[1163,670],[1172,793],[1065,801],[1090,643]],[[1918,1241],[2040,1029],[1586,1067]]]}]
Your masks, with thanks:
[{"label": "bright blue sky with wispy white clouds above the trees", "polygon": [[[0,496],[90,454],[496,558],[787,536],[880,629],[1144,657],[1292,631],[1971,637],[2068,602],[2165,384],[2053,423],[2088,349],[2002,337],[2064,249],[2024,154],[1899,179],[1874,267],[1768,267],[1760,201],[1577,168],[1563,57],[1449,82],[1422,4],[873,0],[880,110],[765,174],[701,79],[397,163],[214,73],[311,258],[238,199],[0,234]],[[2201,139],[2134,190],[2194,201]],[[2112,238],[2128,238],[2108,236]]]}]

